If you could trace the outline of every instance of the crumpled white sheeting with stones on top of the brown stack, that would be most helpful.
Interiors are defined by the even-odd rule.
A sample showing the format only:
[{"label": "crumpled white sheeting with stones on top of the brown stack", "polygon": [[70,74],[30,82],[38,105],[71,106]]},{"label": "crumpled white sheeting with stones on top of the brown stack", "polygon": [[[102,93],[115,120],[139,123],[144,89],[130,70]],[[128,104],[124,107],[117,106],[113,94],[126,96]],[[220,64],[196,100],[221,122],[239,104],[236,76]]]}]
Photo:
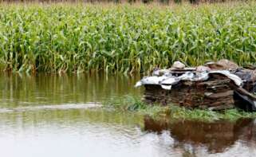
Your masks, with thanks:
[{"label": "crumpled white sheeting with stones on top of the brown stack", "polygon": [[[172,75],[174,71],[177,73],[177,71],[181,69],[183,72],[181,76],[175,77]],[[234,84],[242,86],[242,79],[237,75],[230,73],[230,71],[227,69],[238,69],[238,65],[232,61],[220,60],[218,62],[208,63],[207,66],[200,65],[195,69],[186,70],[183,63],[180,61],[175,61],[171,69],[155,69],[152,73],[152,77],[144,77],[142,80],[136,83],[135,87],[140,87],[144,84],[158,84],[161,85],[162,88],[170,90],[171,85],[179,83],[180,80],[204,81],[209,79],[209,74],[211,73],[218,73],[228,77],[230,80],[234,81]]]}]

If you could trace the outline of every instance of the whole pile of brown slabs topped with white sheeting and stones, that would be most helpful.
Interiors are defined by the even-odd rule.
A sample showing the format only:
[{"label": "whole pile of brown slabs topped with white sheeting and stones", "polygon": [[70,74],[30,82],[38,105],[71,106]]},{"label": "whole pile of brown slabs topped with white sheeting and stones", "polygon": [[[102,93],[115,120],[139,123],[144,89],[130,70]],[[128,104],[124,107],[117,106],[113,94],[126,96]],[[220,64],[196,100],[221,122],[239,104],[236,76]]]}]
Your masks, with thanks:
[{"label": "whole pile of brown slabs topped with white sheeting and stones", "polygon": [[176,104],[187,108],[256,111],[256,70],[226,59],[186,67],[175,61],[170,69],[154,69],[136,87],[144,86],[148,104]]}]

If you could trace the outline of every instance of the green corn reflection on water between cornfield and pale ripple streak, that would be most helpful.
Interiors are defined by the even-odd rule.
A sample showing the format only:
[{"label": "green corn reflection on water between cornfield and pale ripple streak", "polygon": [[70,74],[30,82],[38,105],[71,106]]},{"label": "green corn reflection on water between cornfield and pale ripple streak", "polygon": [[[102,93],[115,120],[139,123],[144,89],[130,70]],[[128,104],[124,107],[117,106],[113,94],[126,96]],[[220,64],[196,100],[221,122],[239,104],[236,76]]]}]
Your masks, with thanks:
[{"label": "green corn reflection on water between cornfield and pale ripple streak", "polygon": [[109,97],[126,94],[140,96],[134,88],[140,76],[104,75],[104,73],[77,75],[37,74],[26,76],[1,73],[1,107],[28,104],[76,104],[100,102]]}]

